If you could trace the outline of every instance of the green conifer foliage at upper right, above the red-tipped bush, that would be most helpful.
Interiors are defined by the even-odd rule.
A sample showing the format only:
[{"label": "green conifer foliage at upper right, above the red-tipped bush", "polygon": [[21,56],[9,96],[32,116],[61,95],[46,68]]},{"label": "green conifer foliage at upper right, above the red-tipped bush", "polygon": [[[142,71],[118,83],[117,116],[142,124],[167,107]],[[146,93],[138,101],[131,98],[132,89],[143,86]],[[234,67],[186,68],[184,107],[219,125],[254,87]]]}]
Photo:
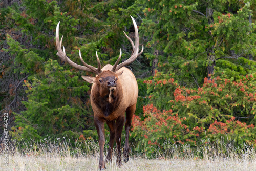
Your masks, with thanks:
[{"label": "green conifer foliage at upper right, above the red-tipped bush", "polygon": [[[219,59],[239,67],[240,56],[255,56],[255,24],[249,16],[255,7],[237,1],[140,1],[146,4],[141,33],[147,47],[158,49],[159,62],[184,86],[202,86]],[[210,13],[213,11],[213,13]],[[156,58],[146,54],[148,58]],[[240,66],[247,70],[247,66]],[[246,73],[248,74],[248,73]],[[244,73],[244,75],[246,75]],[[208,77],[210,77],[208,75]],[[196,84],[197,83],[197,84]]]}]

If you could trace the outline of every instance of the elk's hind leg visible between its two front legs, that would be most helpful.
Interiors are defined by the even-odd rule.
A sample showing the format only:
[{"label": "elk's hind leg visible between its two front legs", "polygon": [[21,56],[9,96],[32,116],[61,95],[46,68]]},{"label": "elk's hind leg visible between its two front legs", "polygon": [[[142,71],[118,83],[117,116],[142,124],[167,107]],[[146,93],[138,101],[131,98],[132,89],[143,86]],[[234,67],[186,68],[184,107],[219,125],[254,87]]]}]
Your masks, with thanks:
[{"label": "elk's hind leg visible between its two front legs", "polygon": [[110,128],[110,146],[109,146],[109,151],[108,155],[106,156],[106,161],[105,162],[112,162],[112,152],[113,152],[113,145],[114,145],[114,140],[116,136],[116,123],[115,121],[106,121],[106,124],[108,124]]}]

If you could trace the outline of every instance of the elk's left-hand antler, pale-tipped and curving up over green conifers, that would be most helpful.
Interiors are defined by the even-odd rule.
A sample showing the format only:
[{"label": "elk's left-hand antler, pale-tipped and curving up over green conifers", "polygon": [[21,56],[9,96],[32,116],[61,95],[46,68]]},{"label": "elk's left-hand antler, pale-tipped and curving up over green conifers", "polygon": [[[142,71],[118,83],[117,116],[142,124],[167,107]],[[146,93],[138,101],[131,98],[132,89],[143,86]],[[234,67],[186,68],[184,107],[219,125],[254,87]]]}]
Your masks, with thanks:
[{"label": "elk's left-hand antler, pale-tipped and curving up over green conifers", "polygon": [[[60,22],[59,22],[60,23]],[[86,62],[83,61],[82,59],[82,56],[81,56],[81,51],[79,50],[79,56],[80,56],[80,59],[81,59],[81,62],[83,63],[84,66],[80,66],[78,64],[76,64],[75,62],[73,62],[72,60],[70,60],[67,55],[66,55],[66,52],[65,52],[65,48],[63,46],[63,51],[61,49],[61,44],[62,44],[62,38],[63,36],[61,37],[61,40],[59,42],[59,23],[57,24],[57,27],[56,27],[56,46],[57,46],[57,49],[58,49],[58,52],[57,52],[57,55],[63,60],[63,61],[66,61],[67,63],[69,63],[69,65],[71,65],[72,67],[74,68],[77,68],[79,70],[83,70],[83,71],[89,71],[89,72],[93,72],[95,74],[98,74],[101,73],[101,69],[100,69],[100,61],[99,61],[99,57],[98,57],[98,54],[97,54],[97,51],[96,51],[96,57],[97,57],[97,62],[98,62],[98,68],[95,68],[93,66],[90,66],[88,65]]]}]

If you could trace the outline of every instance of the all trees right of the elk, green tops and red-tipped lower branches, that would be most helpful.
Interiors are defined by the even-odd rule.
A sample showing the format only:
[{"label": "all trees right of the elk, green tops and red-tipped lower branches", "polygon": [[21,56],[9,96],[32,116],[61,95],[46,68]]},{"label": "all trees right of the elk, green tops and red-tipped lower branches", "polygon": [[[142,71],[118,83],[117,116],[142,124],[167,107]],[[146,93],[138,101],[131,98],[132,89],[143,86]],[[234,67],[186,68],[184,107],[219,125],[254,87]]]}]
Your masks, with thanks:
[{"label": "all trees right of the elk, green tops and red-tipped lower branches", "polygon": [[158,63],[153,79],[144,80],[149,104],[133,118],[136,149],[152,157],[169,142],[193,147],[223,137],[255,146],[255,4],[140,2],[141,33],[159,55],[145,53]]}]

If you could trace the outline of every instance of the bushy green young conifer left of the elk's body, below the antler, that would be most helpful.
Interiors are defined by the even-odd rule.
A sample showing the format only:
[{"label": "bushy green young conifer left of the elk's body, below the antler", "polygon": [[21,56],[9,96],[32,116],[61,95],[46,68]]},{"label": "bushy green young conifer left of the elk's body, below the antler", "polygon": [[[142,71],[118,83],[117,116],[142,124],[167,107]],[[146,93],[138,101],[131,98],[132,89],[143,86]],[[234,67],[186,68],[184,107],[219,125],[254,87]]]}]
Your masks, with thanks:
[{"label": "bushy green young conifer left of the elk's body, below the antler", "polygon": [[23,102],[27,110],[21,115],[16,114],[17,127],[23,131],[21,138],[27,139],[34,134],[37,138],[53,134],[63,136],[68,130],[79,132],[85,129],[91,110],[83,106],[80,96],[89,87],[78,81],[78,76],[63,70],[56,60],[50,59],[45,65],[45,75],[32,80],[32,83],[24,81],[29,94],[29,100]]}]

